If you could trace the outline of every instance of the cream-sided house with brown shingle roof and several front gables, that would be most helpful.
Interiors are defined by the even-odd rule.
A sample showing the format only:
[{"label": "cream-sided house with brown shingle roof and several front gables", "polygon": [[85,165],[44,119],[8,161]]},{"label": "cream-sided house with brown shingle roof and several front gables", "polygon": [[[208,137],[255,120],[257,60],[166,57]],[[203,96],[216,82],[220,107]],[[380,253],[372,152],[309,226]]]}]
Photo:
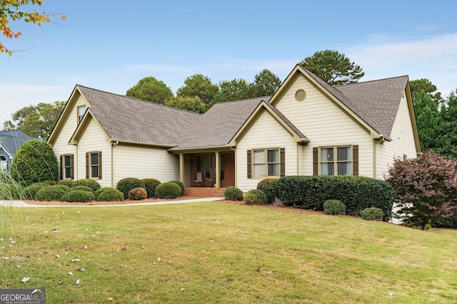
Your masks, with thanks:
[{"label": "cream-sided house with brown shingle roof and several front gables", "polygon": [[331,86],[296,65],[273,96],[199,114],[76,85],[48,140],[61,179],[255,189],[284,175],[383,178],[421,153],[408,76]]}]

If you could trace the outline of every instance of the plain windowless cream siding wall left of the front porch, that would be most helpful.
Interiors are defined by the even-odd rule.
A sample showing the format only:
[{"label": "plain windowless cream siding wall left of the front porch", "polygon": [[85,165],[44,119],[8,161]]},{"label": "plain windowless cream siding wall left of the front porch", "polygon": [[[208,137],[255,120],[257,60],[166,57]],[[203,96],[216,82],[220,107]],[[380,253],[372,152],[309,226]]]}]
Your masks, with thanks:
[{"label": "plain windowless cream siding wall left of the front porch", "polygon": [[113,149],[114,187],[125,177],[179,180],[179,155],[164,148],[116,145]]}]

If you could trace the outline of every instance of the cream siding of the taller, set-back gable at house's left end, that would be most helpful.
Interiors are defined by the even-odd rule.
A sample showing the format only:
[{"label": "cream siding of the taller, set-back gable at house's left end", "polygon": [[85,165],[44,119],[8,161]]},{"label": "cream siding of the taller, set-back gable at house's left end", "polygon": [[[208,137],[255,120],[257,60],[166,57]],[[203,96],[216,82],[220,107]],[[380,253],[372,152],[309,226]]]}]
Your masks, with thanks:
[{"label": "cream siding of the taller, set-back gable at house's left end", "polygon": [[[69,145],[69,140],[71,136],[74,133],[74,130],[76,130],[77,125],[77,117],[78,117],[78,107],[81,105],[87,106],[89,103],[87,103],[86,98],[84,96],[80,95],[78,100],[76,101],[76,104],[74,105],[73,109],[71,110],[71,113],[66,120],[64,127],[62,127],[61,132],[59,133],[59,137],[57,137],[56,142],[54,142],[53,150],[54,154],[56,154],[57,157],[57,162],[60,162],[60,155],[62,154],[74,154],[75,155],[75,176],[77,176],[77,170],[76,170],[76,146],[74,145]],[[85,174],[84,174],[85,177]]]}]

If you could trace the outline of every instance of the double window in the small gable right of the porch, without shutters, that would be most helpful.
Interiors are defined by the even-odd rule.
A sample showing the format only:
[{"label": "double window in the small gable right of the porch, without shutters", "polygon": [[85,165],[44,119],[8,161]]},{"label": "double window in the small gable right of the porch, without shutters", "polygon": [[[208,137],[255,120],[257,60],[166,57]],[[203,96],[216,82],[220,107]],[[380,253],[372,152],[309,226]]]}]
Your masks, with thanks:
[{"label": "double window in the small gable right of the porch, without shutters", "polygon": [[279,149],[253,150],[254,177],[278,177]]}]

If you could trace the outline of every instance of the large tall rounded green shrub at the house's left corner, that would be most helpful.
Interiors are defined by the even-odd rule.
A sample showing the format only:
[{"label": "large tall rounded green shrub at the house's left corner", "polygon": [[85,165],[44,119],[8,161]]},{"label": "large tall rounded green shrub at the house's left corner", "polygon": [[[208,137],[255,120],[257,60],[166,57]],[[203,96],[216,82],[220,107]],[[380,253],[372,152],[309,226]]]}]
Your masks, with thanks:
[{"label": "large tall rounded green shrub at the house's left corner", "polygon": [[56,155],[51,146],[41,140],[24,142],[11,163],[11,177],[23,186],[56,181],[58,174]]}]

